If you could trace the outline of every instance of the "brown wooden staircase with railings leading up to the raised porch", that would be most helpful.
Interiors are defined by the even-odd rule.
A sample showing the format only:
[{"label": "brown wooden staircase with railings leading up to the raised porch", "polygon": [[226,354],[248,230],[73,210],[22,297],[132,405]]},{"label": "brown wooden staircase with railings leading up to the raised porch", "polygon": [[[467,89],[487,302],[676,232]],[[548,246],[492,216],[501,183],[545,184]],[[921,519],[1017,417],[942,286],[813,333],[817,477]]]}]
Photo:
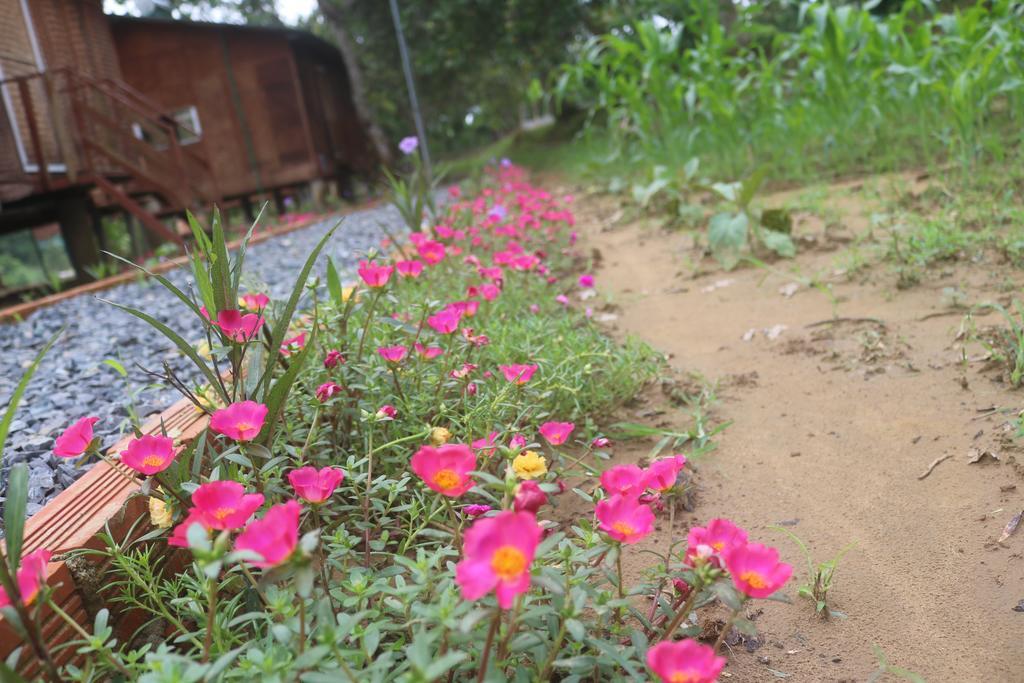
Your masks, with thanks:
[{"label": "brown wooden staircase with railings leading up to the raised porch", "polygon": [[[34,193],[91,189],[100,212],[124,211],[156,238],[183,247],[163,218],[220,202],[216,176],[187,131],[147,97],[115,79],[57,69],[0,81],[27,138]],[[17,179],[26,181],[26,176]],[[0,183],[13,182],[0,177]]]}]

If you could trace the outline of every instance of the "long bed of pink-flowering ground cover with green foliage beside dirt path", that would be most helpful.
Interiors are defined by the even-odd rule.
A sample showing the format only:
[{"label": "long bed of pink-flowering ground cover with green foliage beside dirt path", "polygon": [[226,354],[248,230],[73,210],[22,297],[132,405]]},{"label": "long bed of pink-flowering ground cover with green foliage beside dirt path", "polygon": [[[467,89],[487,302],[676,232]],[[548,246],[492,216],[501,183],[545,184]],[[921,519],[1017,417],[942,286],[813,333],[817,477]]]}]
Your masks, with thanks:
[{"label": "long bed of pink-flowering ground cover with green foliage beside dirt path", "polygon": [[[566,305],[595,285],[578,279],[567,198],[503,165],[453,199],[439,223],[368,254],[353,287],[330,264],[325,287],[309,280],[317,249],[287,301],[240,297],[244,248],[232,258],[218,226],[197,227],[197,293],[175,292],[202,344],[128,310],[200,368],[205,387],[167,380],[208,432],[133,439],[120,461],[150,497],[146,530],[82,551],[146,628],[123,642],[105,609],[92,625],[60,612],[80,656],[53,664],[38,626],[40,605],[59,609],[41,583],[49,553],[20,556],[24,505],[8,502],[0,607],[48,679],[716,679],[730,625],[751,630],[744,604],[792,567],[716,519],[626,585],[623,556],[691,477],[682,454],[602,471],[595,419],[659,359]],[[108,457],[94,422],[71,425],[57,455]],[[593,496],[568,490],[583,478],[599,479]],[[577,495],[589,512],[568,516]],[[731,617],[700,643],[692,616],[712,603]]]}]

